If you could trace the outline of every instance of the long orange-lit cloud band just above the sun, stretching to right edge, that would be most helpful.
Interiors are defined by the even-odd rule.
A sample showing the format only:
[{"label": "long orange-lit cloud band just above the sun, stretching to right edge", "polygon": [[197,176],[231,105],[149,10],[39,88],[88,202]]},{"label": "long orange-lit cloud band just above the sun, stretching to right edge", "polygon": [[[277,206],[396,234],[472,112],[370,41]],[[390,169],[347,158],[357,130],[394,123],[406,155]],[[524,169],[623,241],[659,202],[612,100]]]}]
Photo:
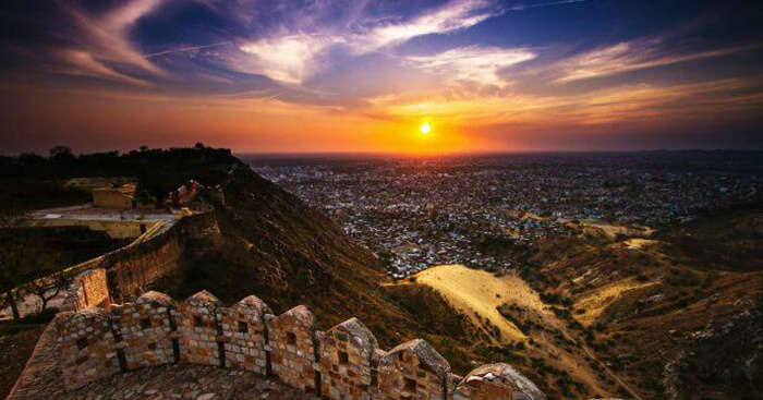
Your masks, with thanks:
[{"label": "long orange-lit cloud band just above the sun, stretching to right edge", "polygon": [[[383,96],[370,101],[388,119],[433,116],[461,125],[598,125],[679,120],[719,112],[751,112],[763,106],[756,80],[717,80],[676,85],[623,83],[576,95],[538,96],[519,92],[485,96],[476,93],[419,93]],[[750,88],[758,88],[750,90]],[[549,120],[548,116],[554,119]]]}]

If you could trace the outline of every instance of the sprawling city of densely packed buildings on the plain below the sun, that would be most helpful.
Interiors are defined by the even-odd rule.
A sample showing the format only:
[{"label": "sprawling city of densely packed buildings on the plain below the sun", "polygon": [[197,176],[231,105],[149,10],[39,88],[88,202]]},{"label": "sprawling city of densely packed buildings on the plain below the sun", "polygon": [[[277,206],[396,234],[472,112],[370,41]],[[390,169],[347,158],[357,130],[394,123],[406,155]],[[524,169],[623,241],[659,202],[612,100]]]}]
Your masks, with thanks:
[{"label": "sprawling city of densely packed buildings on the plain below the sun", "polygon": [[[760,198],[755,154],[643,153],[291,159],[253,169],[315,207],[405,278],[433,265],[500,270],[491,240],[533,245],[580,221],[655,227]],[[750,173],[754,169],[758,172]]]}]

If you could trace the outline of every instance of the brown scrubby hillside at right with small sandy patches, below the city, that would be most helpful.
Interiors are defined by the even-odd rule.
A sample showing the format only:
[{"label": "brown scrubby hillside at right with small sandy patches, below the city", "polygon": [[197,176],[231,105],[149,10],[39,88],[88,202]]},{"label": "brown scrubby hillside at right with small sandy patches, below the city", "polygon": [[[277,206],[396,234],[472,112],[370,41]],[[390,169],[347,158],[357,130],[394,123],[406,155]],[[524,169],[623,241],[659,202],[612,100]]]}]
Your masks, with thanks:
[{"label": "brown scrubby hillside at right with small sandy patches, below the city", "polygon": [[553,238],[521,254],[522,276],[581,346],[644,398],[756,399],[761,218],[747,207],[647,240]]}]

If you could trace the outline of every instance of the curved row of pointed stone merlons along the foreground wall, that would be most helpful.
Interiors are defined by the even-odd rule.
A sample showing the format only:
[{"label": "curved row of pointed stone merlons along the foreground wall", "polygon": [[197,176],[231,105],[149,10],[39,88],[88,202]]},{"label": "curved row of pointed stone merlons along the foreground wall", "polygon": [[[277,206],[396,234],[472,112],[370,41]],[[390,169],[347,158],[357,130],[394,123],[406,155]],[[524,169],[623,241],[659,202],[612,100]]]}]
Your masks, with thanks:
[{"label": "curved row of pointed stone merlons along the foreground wall", "polygon": [[274,315],[250,295],[225,306],[207,291],[184,301],[147,292],[133,303],[62,312],[53,320],[69,389],[114,374],[172,363],[271,376],[326,399],[545,399],[507,364],[465,377],[426,341],[389,351],[356,318],[326,331],[304,305]]}]

